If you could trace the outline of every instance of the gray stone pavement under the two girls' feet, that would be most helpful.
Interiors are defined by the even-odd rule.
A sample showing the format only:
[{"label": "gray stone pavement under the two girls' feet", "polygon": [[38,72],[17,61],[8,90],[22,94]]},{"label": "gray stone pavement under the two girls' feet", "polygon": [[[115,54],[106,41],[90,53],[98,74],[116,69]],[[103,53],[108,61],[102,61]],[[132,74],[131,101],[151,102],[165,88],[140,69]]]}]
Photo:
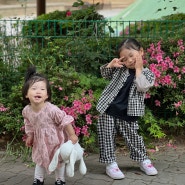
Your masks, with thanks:
[{"label": "gray stone pavement under the two girls' feet", "polygon": [[[0,185],[32,185],[34,167],[28,167],[21,159],[3,158],[0,154]],[[98,154],[85,157],[87,174],[78,172],[76,163],[75,175],[66,177],[66,185],[185,185],[185,147],[176,148],[163,146],[158,152],[150,153],[159,174],[147,176],[140,171],[136,162],[129,158],[127,152],[117,154],[120,169],[125,179],[113,180],[105,174],[105,166],[98,162]],[[47,175],[45,185],[54,185],[54,174]]]}]

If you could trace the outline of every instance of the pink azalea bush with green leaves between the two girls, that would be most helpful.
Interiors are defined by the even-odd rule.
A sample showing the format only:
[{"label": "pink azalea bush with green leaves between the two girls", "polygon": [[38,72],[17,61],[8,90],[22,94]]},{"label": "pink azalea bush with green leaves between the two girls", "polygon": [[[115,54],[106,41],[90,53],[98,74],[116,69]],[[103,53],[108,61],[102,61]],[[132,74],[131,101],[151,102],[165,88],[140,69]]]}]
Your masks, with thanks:
[{"label": "pink azalea bush with green leaves between the two girls", "polygon": [[102,78],[89,77],[69,69],[51,77],[50,84],[52,102],[74,117],[72,124],[80,143],[87,150],[94,150],[97,145],[96,124],[99,115],[96,110],[97,97],[106,82]]}]

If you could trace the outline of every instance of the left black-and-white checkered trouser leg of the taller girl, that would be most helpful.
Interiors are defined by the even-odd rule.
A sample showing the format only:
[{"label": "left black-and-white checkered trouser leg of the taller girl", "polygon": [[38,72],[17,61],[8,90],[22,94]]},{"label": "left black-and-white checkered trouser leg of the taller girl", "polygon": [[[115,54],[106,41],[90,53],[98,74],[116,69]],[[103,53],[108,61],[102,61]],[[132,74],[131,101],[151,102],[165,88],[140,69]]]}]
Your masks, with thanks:
[{"label": "left black-and-white checkered trouser leg of the taller girl", "polygon": [[97,124],[98,140],[100,147],[101,163],[112,163],[116,161],[114,118],[107,114],[100,115]]}]

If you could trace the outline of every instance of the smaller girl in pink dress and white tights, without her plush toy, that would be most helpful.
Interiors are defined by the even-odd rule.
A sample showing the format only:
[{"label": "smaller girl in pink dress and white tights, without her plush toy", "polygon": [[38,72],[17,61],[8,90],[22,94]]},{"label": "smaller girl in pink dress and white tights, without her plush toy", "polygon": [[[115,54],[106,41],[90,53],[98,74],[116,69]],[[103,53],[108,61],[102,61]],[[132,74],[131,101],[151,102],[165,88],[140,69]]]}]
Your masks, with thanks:
[{"label": "smaller girl in pink dress and white tights, without her plush toy", "polygon": [[[66,140],[76,143],[78,137],[71,125],[73,117],[50,103],[49,81],[36,73],[35,67],[26,73],[22,95],[28,104],[22,111],[26,146],[32,147],[32,160],[36,163],[33,185],[44,185],[44,174],[49,173],[48,166],[55,151]],[[65,165],[61,163],[55,170],[55,185],[65,184],[64,172]]]}]

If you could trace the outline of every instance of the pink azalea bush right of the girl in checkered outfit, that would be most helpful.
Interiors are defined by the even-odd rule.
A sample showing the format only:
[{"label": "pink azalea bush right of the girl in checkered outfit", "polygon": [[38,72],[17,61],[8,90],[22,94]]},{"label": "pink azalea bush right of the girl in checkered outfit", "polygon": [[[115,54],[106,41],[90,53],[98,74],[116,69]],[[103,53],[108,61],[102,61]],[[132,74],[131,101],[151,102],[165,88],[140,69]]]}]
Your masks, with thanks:
[{"label": "pink azalea bush right of the girl in checkered outfit", "polygon": [[[181,125],[185,124],[185,43],[179,39],[169,43],[169,51],[163,49],[163,41],[150,44],[145,56],[145,64],[156,76],[154,88],[146,99],[152,102],[156,115],[166,111],[170,117],[178,117]],[[168,118],[170,118],[168,117]],[[175,119],[175,118],[174,118]],[[179,123],[173,123],[175,124]]]}]

